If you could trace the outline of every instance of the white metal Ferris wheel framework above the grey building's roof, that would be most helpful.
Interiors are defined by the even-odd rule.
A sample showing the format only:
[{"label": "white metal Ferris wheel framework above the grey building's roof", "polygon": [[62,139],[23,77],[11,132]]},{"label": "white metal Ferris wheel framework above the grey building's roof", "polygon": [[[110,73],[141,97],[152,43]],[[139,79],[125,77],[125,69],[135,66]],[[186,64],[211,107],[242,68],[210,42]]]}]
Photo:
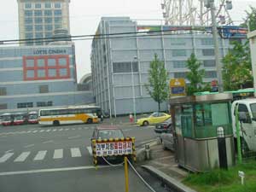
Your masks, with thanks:
[{"label": "white metal Ferris wheel framework above the grey building's roof", "polygon": [[[162,0],[161,8],[166,25],[172,26],[210,26],[211,13],[205,7],[206,0]],[[212,1],[212,0],[210,0]],[[218,25],[232,25],[229,0],[214,0]]]}]

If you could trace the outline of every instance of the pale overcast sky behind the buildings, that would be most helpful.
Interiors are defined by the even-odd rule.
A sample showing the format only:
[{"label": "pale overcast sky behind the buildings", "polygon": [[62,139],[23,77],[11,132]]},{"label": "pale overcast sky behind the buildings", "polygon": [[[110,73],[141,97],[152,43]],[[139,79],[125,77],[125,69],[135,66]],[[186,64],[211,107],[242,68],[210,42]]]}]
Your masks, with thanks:
[{"label": "pale overcast sky behind the buildings", "polygon": [[[16,0],[4,1],[0,6],[0,40],[19,38],[18,6]],[[161,0],[70,0],[70,28],[72,35],[95,34],[102,16],[129,16],[138,24],[154,24],[162,20]],[[194,0],[195,1],[195,0]],[[232,20],[241,22],[244,10],[249,5],[256,7],[256,0],[232,0],[230,10]],[[4,5],[4,6],[3,6]],[[142,21],[140,21],[142,20]],[[85,73],[90,73],[91,40],[76,41],[76,62],[78,80]]]}]

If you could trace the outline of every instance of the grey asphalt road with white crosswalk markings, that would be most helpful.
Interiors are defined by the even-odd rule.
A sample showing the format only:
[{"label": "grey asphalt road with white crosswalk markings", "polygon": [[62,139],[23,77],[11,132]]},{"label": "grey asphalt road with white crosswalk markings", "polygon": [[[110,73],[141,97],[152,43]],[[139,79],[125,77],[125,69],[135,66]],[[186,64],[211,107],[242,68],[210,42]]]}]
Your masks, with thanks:
[{"label": "grey asphalt road with white crosswalk markings", "polygon": [[[92,164],[90,137],[96,125],[0,126],[0,192],[125,191],[123,166]],[[153,127],[122,125],[136,145],[156,137]],[[130,171],[131,191],[148,191]]]}]

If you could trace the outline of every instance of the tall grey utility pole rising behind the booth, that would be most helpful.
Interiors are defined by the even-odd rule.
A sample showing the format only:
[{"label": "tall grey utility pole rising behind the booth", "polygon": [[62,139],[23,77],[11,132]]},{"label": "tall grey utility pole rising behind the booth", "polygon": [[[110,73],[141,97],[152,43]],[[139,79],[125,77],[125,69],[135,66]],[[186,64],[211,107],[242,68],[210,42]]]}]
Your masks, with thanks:
[{"label": "tall grey utility pole rising behind the booth", "polygon": [[[207,9],[211,9],[211,16],[212,16],[212,35],[214,41],[214,50],[215,50],[215,63],[217,68],[217,78],[218,78],[218,92],[223,92],[223,80],[222,80],[222,67],[219,62],[219,44],[218,44],[218,32],[217,32],[217,25],[216,25],[216,16],[215,16],[215,5],[214,0],[205,0],[205,7]],[[228,1],[230,3],[230,1]]]}]

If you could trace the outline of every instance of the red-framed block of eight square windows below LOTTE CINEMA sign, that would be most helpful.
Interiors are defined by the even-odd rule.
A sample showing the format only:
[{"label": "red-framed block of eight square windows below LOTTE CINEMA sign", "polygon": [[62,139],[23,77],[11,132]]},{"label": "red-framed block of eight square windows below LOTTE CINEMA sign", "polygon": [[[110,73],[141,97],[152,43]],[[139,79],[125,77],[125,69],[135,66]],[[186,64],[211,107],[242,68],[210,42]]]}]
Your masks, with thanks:
[{"label": "red-framed block of eight square windows below LOTTE CINEMA sign", "polygon": [[70,78],[68,55],[24,56],[23,61],[24,80]]}]

